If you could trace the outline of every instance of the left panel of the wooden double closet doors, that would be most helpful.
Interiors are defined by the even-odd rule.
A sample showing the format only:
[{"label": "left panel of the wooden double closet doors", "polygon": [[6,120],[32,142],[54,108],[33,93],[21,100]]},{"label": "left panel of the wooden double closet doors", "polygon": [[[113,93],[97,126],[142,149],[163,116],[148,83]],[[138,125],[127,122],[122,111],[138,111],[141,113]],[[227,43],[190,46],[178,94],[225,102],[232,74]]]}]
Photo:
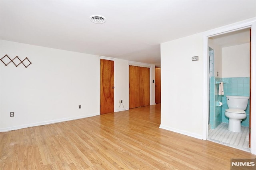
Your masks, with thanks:
[{"label": "left panel of the wooden double closet doors", "polygon": [[140,107],[140,67],[129,66],[129,108]]}]

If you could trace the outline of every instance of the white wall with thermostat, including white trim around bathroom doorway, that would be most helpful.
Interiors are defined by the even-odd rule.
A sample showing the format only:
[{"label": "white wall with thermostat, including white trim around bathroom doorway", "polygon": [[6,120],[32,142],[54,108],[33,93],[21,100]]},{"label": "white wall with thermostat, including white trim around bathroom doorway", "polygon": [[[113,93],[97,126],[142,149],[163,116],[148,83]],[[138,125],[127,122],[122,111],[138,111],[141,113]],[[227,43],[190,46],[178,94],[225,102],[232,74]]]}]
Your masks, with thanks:
[{"label": "white wall with thermostat, including white trim around bathroom doorway", "polygon": [[[209,111],[208,37],[248,26],[252,26],[251,104],[252,106],[256,105],[254,100],[254,89],[256,89],[254,75],[256,22],[255,18],[252,18],[161,44],[161,88],[163,93],[161,97],[160,128],[204,140],[207,139]],[[199,55],[199,61],[191,61],[191,56],[194,55]],[[256,153],[254,126],[256,125],[256,119],[254,113],[255,107],[251,107],[252,154]]]}]

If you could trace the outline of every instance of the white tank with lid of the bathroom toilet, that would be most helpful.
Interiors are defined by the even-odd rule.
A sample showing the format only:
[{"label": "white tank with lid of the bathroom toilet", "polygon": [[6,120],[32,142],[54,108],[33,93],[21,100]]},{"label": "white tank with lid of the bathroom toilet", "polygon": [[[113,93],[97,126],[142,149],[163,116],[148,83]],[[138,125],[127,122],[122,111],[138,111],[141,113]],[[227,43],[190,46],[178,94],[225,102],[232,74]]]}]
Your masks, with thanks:
[{"label": "white tank with lid of the bathroom toilet", "polygon": [[228,108],[246,110],[248,105],[248,96],[226,96]]}]

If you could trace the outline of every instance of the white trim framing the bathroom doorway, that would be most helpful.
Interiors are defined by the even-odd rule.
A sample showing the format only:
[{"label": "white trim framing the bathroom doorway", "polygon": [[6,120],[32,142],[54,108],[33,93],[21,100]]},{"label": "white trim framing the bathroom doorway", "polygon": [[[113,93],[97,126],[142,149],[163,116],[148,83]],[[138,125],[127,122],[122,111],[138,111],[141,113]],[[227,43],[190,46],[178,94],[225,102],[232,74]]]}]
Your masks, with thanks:
[{"label": "white trim framing the bathroom doorway", "polygon": [[204,32],[203,36],[203,122],[202,139],[208,137],[208,117],[209,117],[209,58],[208,58],[208,38],[228,32],[234,32],[245,28],[251,28],[251,153],[256,154],[256,18],[244,20]]}]

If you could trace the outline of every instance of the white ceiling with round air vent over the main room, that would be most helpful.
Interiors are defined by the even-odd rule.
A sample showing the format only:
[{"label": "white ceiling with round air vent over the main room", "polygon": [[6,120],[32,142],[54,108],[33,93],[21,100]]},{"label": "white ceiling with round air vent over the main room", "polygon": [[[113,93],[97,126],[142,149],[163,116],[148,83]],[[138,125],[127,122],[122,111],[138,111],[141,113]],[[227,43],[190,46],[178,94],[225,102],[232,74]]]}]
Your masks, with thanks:
[{"label": "white ceiling with round air vent over the main room", "polygon": [[0,39],[160,65],[160,43],[255,16],[256,0],[0,0]]}]

